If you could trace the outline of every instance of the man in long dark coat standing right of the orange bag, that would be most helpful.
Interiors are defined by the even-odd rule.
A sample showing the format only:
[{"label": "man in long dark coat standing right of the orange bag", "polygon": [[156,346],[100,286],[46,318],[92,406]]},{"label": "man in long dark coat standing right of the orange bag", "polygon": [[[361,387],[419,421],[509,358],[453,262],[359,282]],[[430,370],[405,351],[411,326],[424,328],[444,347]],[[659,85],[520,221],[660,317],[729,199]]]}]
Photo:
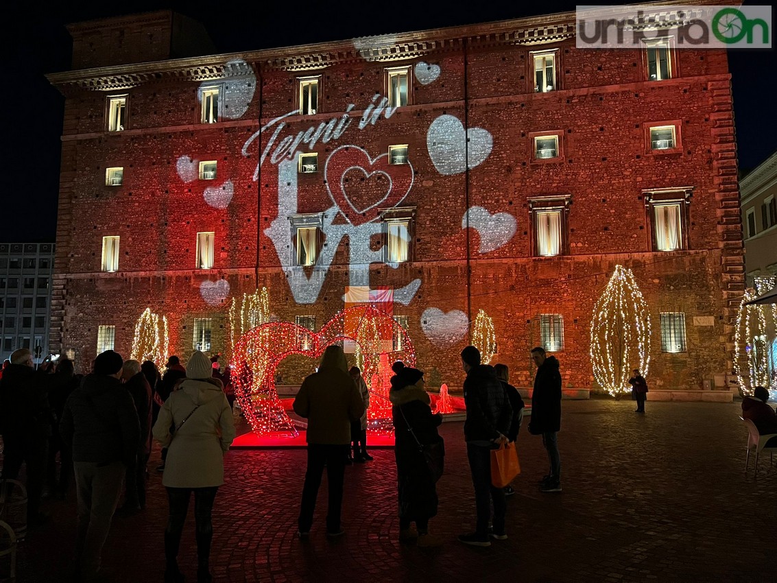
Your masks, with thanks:
[{"label": "man in long dark coat standing right of the orange bag", "polygon": [[531,421],[529,433],[542,435],[542,445],[548,452],[550,473],[542,478],[542,492],[561,491],[561,457],[558,432],[561,429],[561,373],[555,356],[547,356],[545,349],[531,349],[531,360],[537,365],[534,392],[531,393]]}]

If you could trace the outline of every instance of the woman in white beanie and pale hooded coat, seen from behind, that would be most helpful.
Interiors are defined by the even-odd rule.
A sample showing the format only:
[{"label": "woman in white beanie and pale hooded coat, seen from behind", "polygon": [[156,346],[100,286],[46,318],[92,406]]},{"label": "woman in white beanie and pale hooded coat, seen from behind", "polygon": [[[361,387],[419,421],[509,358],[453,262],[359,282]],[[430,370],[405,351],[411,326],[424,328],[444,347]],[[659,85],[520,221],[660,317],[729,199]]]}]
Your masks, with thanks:
[{"label": "woman in white beanie and pale hooded coat, seen from behind", "polygon": [[232,410],[221,381],[211,376],[212,371],[205,354],[192,354],[186,363],[186,380],[170,394],[154,424],[154,438],[162,447],[169,448],[162,475],[170,507],[165,529],[166,583],[183,581],[177,557],[192,492],[197,524],[197,581],[212,580],[211,511],[218,487],[224,484],[224,452],[235,438]]}]

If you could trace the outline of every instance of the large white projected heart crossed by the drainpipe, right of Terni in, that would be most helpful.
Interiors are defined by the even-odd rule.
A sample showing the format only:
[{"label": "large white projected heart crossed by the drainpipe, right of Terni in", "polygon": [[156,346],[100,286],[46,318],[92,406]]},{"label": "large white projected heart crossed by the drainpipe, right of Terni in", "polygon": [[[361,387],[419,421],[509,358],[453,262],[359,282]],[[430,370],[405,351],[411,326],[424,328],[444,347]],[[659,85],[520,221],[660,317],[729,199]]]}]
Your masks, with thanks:
[{"label": "large white projected heart crossed by the drainpipe, right of Terni in", "polygon": [[[466,148],[469,138],[469,154]],[[444,176],[461,174],[482,164],[493,148],[493,138],[483,127],[470,127],[464,131],[464,124],[458,117],[441,115],[434,120],[427,131],[427,150],[437,172]],[[467,158],[465,162],[465,157]]]}]

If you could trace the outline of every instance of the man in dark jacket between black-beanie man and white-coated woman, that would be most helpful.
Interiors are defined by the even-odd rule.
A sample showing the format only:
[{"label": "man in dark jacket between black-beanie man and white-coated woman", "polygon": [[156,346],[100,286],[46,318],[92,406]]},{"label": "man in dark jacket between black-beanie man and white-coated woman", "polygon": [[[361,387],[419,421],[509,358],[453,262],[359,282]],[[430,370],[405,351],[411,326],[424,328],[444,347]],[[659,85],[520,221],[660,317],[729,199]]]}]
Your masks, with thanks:
[{"label": "man in dark jacket between black-beanie man and white-coated woman", "polygon": [[141,440],[138,445],[138,455],[131,466],[127,467],[127,489],[124,494],[124,506],[118,514],[132,515],[145,508],[145,474],[148,455],[151,453],[151,386],[141,372],[141,363],[130,360],[124,363],[121,369],[124,387],[129,391],[135,410],[138,411],[138,420],[141,423]]}]

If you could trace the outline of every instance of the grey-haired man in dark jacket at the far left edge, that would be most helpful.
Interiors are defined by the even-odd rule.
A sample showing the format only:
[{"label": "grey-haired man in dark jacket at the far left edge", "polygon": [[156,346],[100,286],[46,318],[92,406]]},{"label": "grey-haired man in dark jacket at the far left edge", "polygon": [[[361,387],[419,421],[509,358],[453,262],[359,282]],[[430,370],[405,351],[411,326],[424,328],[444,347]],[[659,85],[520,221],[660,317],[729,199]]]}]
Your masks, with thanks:
[{"label": "grey-haired man in dark jacket at the far left edge", "polygon": [[0,380],[0,428],[4,444],[2,477],[16,480],[22,464],[27,469],[27,524],[46,521],[40,512],[46,474],[46,445],[52,417],[47,395],[48,375],[36,372],[26,348],[11,354],[11,364]]}]

